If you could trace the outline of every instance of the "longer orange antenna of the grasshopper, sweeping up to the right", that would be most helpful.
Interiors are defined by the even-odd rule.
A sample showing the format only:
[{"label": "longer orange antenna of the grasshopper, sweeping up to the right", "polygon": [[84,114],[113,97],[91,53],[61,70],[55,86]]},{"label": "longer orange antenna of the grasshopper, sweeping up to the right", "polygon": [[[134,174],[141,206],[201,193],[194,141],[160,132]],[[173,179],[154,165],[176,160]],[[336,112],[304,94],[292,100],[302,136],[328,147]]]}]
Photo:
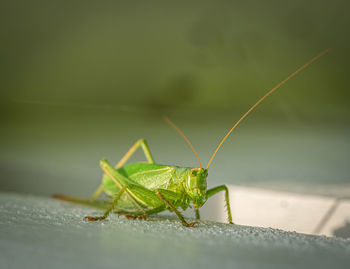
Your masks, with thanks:
[{"label": "longer orange antenna of the grasshopper, sweeping up to the right", "polygon": [[271,90],[269,90],[262,98],[260,98],[251,108],[249,108],[249,110],[244,113],[244,115],[235,123],[235,125],[233,125],[233,127],[231,128],[231,130],[225,135],[225,137],[222,139],[222,141],[220,142],[219,146],[216,148],[214,154],[211,156],[211,159],[207,165],[207,168],[209,168],[211,162],[213,161],[216,153],[218,152],[219,148],[222,146],[222,144],[225,142],[225,140],[227,139],[227,137],[232,133],[232,131],[237,127],[237,125],[254,109],[256,108],[266,97],[268,97],[271,93],[273,93],[275,90],[277,90],[279,87],[281,87],[284,83],[286,83],[288,80],[290,80],[292,77],[294,77],[295,75],[297,75],[300,71],[302,71],[303,69],[305,69],[307,66],[309,66],[310,64],[312,64],[314,61],[316,61],[318,58],[320,58],[321,56],[323,56],[324,54],[326,54],[327,52],[329,52],[330,49],[326,49],[324,51],[322,51],[321,53],[319,53],[318,55],[316,55],[315,57],[313,57],[310,61],[308,61],[307,63],[305,63],[304,65],[302,65],[301,67],[299,67],[296,71],[294,71],[292,74],[290,74],[288,77],[286,77],[284,80],[282,80],[280,83],[278,83],[275,87],[273,87]]}]

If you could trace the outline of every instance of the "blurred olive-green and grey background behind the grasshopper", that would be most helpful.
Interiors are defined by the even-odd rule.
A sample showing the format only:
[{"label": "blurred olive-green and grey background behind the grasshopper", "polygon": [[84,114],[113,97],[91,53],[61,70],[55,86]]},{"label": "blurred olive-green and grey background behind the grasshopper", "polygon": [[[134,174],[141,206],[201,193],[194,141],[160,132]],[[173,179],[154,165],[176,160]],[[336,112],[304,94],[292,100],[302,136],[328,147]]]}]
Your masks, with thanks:
[{"label": "blurred olive-green and grey background behind the grasshopper", "polygon": [[[0,16],[0,188],[87,196],[98,160],[139,138],[156,161],[207,163],[268,89],[209,185],[350,197],[348,1],[7,1]],[[142,159],[138,153],[133,160]]]}]

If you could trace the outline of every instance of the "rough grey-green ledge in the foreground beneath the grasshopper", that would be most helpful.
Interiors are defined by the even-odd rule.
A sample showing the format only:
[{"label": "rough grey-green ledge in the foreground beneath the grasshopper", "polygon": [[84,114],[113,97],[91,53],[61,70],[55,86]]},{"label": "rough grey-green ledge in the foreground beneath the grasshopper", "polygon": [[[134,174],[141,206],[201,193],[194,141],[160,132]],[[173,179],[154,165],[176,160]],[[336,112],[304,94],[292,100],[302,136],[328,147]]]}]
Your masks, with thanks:
[{"label": "rough grey-green ledge in the foreground beneath the grasshopper", "polygon": [[348,268],[350,240],[176,218],[87,223],[86,207],[0,193],[1,268]]}]

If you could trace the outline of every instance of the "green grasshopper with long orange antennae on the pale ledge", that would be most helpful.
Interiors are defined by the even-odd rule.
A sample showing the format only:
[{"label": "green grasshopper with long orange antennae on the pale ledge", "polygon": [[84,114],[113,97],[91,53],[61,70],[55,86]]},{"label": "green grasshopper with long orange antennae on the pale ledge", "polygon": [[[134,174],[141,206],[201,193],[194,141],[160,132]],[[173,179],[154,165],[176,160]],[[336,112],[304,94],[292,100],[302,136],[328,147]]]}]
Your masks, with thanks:
[{"label": "green grasshopper with long orange antennae on the pale ledge", "polygon": [[[105,210],[103,216],[86,216],[84,220],[88,221],[104,220],[111,212],[125,215],[127,218],[131,219],[146,219],[149,215],[169,210],[178,216],[182,225],[193,227],[195,224],[199,223],[199,208],[201,208],[210,197],[224,191],[227,219],[228,222],[232,224],[232,214],[227,186],[220,185],[212,189],[207,189],[208,168],[213,161],[214,156],[231,132],[257,105],[287,80],[294,77],[297,73],[327,52],[328,50],[321,52],[297,69],[294,73],[290,74],[287,78],[268,91],[245,114],[243,114],[243,116],[233,125],[231,130],[222,139],[206,168],[202,167],[198,154],[190,141],[174,123],[166,118],[169,125],[185,139],[195,153],[198,159],[199,168],[157,164],[154,161],[147,142],[144,139],[140,139],[128,150],[115,167],[105,159],[100,161],[100,166],[104,172],[102,183],[89,199],[67,195],[54,195],[54,197]],[[139,147],[142,148],[147,162],[137,162],[126,165],[126,162]],[[103,192],[110,200],[97,200]],[[188,207],[191,207],[191,204],[195,210],[196,222],[187,222],[178,210],[178,208],[185,210]]]}]

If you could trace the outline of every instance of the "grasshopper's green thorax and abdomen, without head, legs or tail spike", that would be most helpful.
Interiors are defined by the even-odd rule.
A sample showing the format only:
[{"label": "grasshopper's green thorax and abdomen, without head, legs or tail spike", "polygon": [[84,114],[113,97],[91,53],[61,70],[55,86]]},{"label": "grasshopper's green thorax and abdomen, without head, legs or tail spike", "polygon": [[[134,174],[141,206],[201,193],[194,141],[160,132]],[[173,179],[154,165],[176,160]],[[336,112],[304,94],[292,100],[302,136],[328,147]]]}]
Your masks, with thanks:
[{"label": "grasshopper's green thorax and abdomen, without head, legs or tail spike", "polygon": [[[121,182],[123,186],[141,185],[153,193],[157,189],[171,191],[177,194],[172,199],[173,205],[181,207],[183,210],[187,209],[191,202],[184,186],[191,168],[155,163],[132,163],[116,170],[125,177],[124,182]],[[111,198],[120,192],[120,188],[106,174],[103,177],[102,184],[104,192]],[[140,193],[140,191],[133,190],[131,187],[121,196],[114,211],[133,215],[144,215],[145,213],[149,215],[164,211],[166,204],[153,193]]]}]

